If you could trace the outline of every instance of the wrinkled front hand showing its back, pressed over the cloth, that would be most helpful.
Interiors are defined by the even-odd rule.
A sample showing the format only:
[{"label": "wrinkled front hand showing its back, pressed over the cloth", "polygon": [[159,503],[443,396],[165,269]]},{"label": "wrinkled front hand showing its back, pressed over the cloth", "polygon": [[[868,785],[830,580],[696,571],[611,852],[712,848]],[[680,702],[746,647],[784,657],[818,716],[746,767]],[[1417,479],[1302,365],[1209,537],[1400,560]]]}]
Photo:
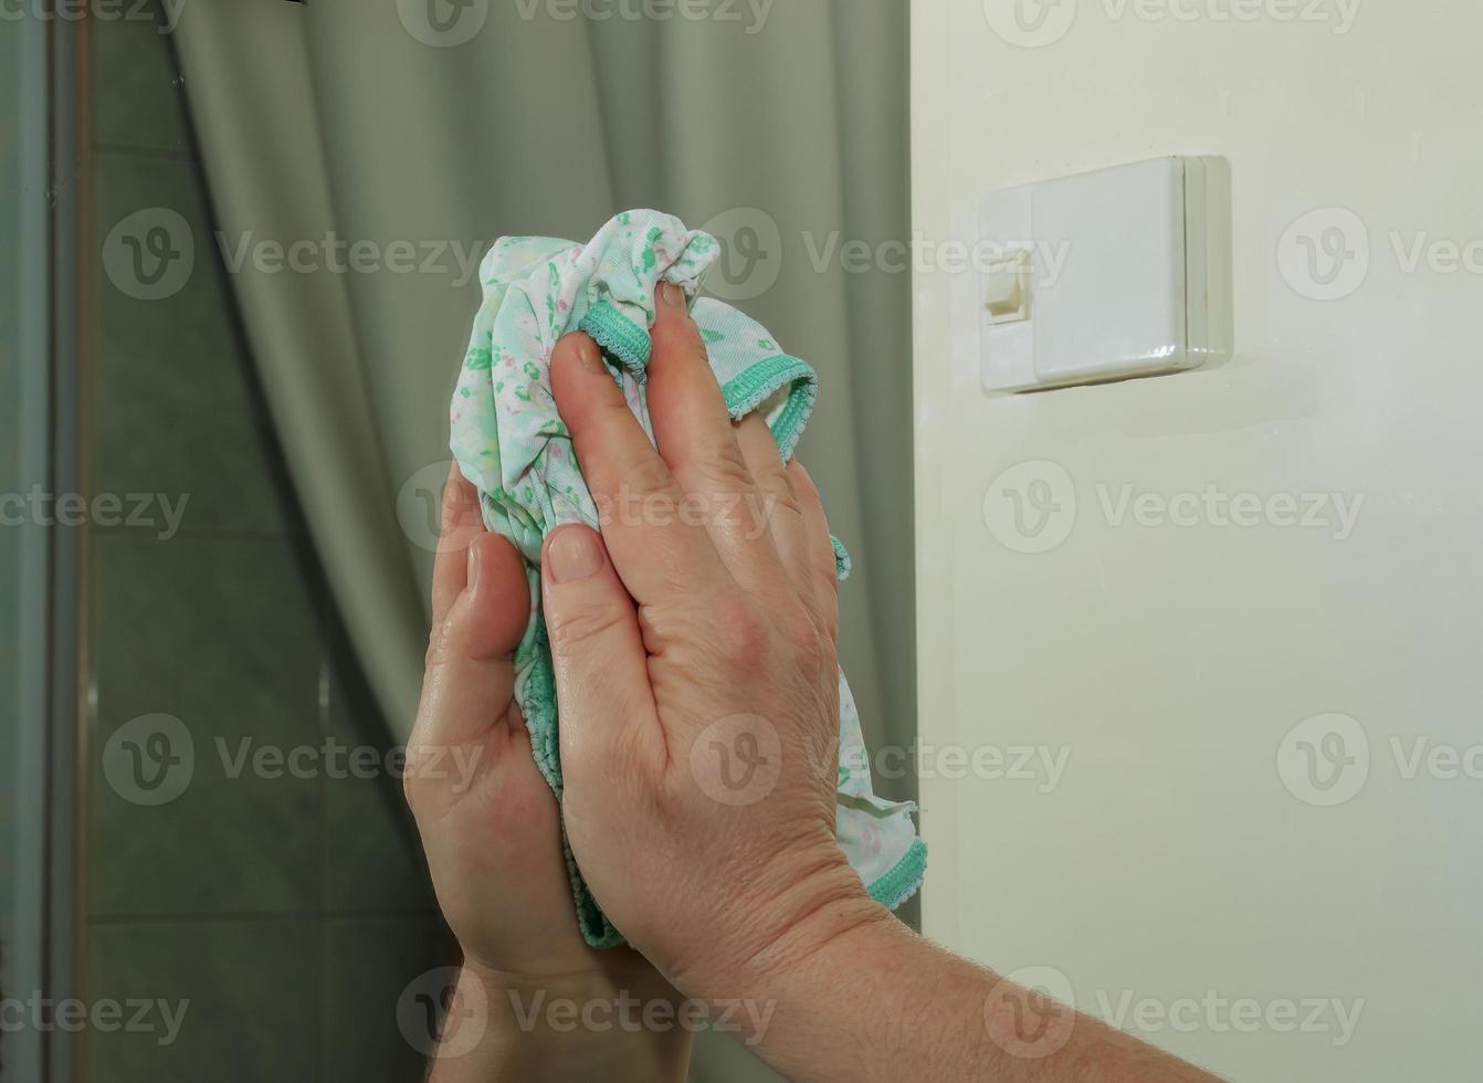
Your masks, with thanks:
[{"label": "wrinkled front hand showing its back, pressed over the cloth", "polygon": [[[667,295],[670,294],[670,295]],[[835,843],[835,558],[767,424],[733,424],[661,286],[645,436],[583,334],[552,386],[602,536],[546,544],[565,822],[599,903],[682,991],[740,995],[875,920]]]}]

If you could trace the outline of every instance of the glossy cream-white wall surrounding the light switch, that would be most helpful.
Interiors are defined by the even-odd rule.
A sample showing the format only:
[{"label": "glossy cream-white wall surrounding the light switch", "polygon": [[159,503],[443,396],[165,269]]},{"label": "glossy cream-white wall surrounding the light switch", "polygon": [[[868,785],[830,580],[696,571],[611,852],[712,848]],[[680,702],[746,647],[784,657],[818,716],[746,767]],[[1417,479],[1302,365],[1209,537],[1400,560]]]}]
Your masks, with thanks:
[{"label": "glossy cream-white wall surrounding the light switch", "polygon": [[[1252,998],[1275,1025],[1229,1028],[1218,1003],[1143,1031],[1223,1076],[1476,1079],[1483,779],[1446,760],[1407,777],[1404,755],[1483,742],[1483,245],[1455,273],[1446,248],[1407,270],[1396,246],[1483,237],[1483,4],[1234,0],[1250,18],[1222,19],[1232,0],[1172,0],[1195,18],[1151,21],[1148,0],[1060,0],[1046,27],[1066,33],[1020,47],[992,25],[1013,3],[912,4],[914,228],[971,240],[991,188],[1223,154],[1237,356],[991,398],[976,277],[918,270],[922,740],[1069,749],[1054,786],[924,758],[925,929],[1003,972],[1054,967],[1093,1012],[1099,993]],[[1324,21],[1281,18],[1305,7]],[[1299,230],[1344,228],[1344,208],[1369,239],[1339,300],[1278,263],[1317,208]],[[1071,479],[1074,527],[1046,553],[986,525],[1022,460]],[[1100,497],[1124,485],[1363,504],[1342,539],[1283,525],[1280,503],[1253,527],[1118,525]],[[1326,712],[1360,724],[1327,748],[1367,743],[1363,785],[1323,758],[1338,785],[1305,785],[1292,740],[1323,722],[1283,746]],[[1352,1037],[1332,1004],[1302,1027],[1308,998],[1363,1001]]]}]

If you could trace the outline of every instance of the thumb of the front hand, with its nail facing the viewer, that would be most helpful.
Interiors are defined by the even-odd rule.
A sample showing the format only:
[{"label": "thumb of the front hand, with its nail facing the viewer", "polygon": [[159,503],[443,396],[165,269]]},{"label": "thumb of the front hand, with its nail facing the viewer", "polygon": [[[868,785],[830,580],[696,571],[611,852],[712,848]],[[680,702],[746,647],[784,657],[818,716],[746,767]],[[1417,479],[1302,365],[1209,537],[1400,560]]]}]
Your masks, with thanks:
[{"label": "thumb of the front hand, with its nail facing the viewer", "polygon": [[635,752],[655,754],[661,764],[663,731],[638,611],[598,531],[553,531],[541,553],[541,585],[568,777],[623,767]]}]

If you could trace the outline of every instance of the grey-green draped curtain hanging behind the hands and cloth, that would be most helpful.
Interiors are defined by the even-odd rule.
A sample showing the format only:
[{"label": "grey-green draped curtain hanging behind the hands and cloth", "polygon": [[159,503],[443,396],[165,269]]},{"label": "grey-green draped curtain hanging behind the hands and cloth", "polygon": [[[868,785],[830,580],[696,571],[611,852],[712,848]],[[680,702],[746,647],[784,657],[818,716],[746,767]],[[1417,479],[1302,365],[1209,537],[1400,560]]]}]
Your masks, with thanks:
[{"label": "grey-green draped curtain hanging behind the hands and cloth", "polygon": [[[909,231],[906,4],[703,7],[179,9],[219,249],[240,264],[233,288],[314,543],[399,736],[421,681],[478,258],[506,233],[584,239],[633,206],[712,226],[728,245],[716,291],[819,369],[799,455],[856,561],[842,660],[872,748],[916,731],[909,269],[862,258]],[[298,270],[277,267],[273,242]]]}]

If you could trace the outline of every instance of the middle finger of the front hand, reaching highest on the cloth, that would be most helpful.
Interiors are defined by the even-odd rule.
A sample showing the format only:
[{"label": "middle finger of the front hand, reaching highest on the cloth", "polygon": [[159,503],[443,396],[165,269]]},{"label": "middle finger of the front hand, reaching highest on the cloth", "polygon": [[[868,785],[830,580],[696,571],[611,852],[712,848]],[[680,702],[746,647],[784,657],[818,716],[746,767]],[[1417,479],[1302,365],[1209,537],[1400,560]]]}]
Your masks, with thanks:
[{"label": "middle finger of the front hand, reaching highest on the cloth", "polygon": [[776,587],[782,567],[761,518],[756,482],[684,298],[667,282],[655,292],[648,366],[654,439],[679,487],[698,501],[706,531],[733,577],[749,589]]}]

